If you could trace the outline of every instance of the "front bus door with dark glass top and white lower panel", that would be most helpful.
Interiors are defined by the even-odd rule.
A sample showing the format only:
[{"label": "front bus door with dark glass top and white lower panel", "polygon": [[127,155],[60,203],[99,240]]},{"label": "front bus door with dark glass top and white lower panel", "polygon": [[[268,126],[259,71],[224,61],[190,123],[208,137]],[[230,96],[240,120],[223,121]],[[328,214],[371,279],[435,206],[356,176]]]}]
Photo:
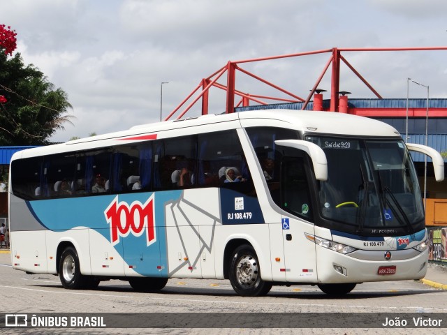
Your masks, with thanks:
[{"label": "front bus door with dark glass top and white lower panel", "polygon": [[305,237],[314,234],[312,199],[309,193],[305,160],[286,157],[281,161],[281,208],[286,280],[316,281],[315,245]]}]

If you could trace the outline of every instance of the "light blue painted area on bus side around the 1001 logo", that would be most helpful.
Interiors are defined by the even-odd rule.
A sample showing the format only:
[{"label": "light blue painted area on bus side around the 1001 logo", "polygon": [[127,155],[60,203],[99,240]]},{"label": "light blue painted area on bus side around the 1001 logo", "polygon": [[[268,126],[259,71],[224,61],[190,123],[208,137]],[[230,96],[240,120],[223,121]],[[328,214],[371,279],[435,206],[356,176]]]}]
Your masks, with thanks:
[{"label": "light blue painted area on bus side around the 1001 logo", "polygon": [[[145,204],[153,193],[128,193],[118,196],[119,203],[129,206],[135,202]],[[159,265],[167,265],[165,204],[178,200],[182,191],[166,191],[156,193],[154,200],[154,218],[156,225],[156,241],[147,246],[144,236],[129,234],[121,237],[113,247],[121,255],[126,265],[138,266],[134,269],[145,276],[167,276],[168,269],[157,269]],[[43,227],[52,231],[64,231],[87,227],[101,234],[111,242],[110,224],[105,217],[105,210],[115,201],[117,195],[101,195],[94,197],[65,198],[27,202],[30,212]],[[147,228],[146,228],[147,229]],[[123,248],[125,246],[125,248]],[[144,262],[141,262],[144,257]]]}]

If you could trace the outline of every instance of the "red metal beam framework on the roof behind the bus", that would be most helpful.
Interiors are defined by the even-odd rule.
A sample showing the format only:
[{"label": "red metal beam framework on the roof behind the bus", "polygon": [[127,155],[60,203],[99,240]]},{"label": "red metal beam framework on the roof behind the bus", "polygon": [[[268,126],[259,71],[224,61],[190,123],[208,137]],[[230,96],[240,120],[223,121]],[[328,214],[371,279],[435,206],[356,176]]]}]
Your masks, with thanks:
[{"label": "red metal beam framework on the roof behind the bus", "polygon": [[[209,98],[209,90],[211,87],[217,87],[219,89],[223,89],[226,91],[226,113],[232,113],[234,112],[235,107],[239,107],[240,105],[248,106],[250,101],[254,101],[255,103],[259,103],[261,105],[268,105],[265,100],[268,101],[281,101],[281,102],[290,102],[290,103],[296,103],[296,102],[302,102],[302,110],[305,110],[307,107],[307,104],[309,101],[311,101],[312,96],[314,96],[314,110],[323,110],[323,96],[321,94],[318,94],[317,87],[318,84],[320,84],[321,80],[323,79],[323,76],[325,75],[326,71],[328,70],[329,66],[332,64],[332,73],[331,73],[331,84],[330,84],[330,107],[328,111],[331,112],[348,112],[348,103],[347,103],[347,96],[339,96],[341,92],[339,92],[339,80],[340,80],[340,65],[341,61],[348,66],[348,68],[356,74],[356,76],[374,93],[374,95],[381,99],[382,96],[365,80],[358,71],[349,64],[349,61],[346,60],[345,57],[342,56],[342,52],[386,52],[386,51],[427,51],[427,50],[447,50],[447,47],[382,47],[382,48],[337,48],[333,47],[332,49],[325,49],[325,50],[316,50],[316,51],[310,51],[310,52],[300,52],[297,54],[285,54],[281,56],[272,56],[272,57],[262,57],[262,58],[255,58],[255,59],[245,59],[240,61],[228,61],[228,64],[226,66],[223,66],[219,70],[217,70],[215,73],[210,75],[207,78],[203,78],[201,80],[200,84],[193,89],[191,94],[187,96],[182,103],[180,103],[173,112],[171,112],[168,117],[166,117],[166,120],[173,117],[175,113],[177,113],[180,108],[184,106],[184,104],[191,99],[191,97],[194,94],[197,94],[198,91],[200,93],[193,98],[193,101],[187,105],[182,112],[177,116],[177,119],[180,119],[188,112],[191,107],[200,99],[202,98],[202,114],[208,114],[208,98]],[[261,77],[258,77],[254,73],[250,73],[247,70],[244,70],[240,64],[244,63],[252,63],[252,62],[258,62],[258,61],[269,61],[273,59],[285,59],[285,58],[291,58],[291,57],[301,57],[306,55],[312,55],[312,54],[330,54],[330,57],[328,61],[326,62],[323,71],[321,72],[321,75],[317,78],[314,87],[310,91],[310,94],[307,95],[306,98],[302,98],[298,95],[293,94],[290,91],[287,91],[286,89],[283,89],[279,87],[277,84],[273,84],[272,82],[268,82],[267,80],[264,80]],[[286,94],[289,98],[279,98],[279,97],[273,97],[273,96],[262,96],[262,95],[256,95],[251,93],[242,92],[236,89],[236,71],[240,71],[241,73],[244,73],[245,75],[249,75],[250,77],[253,77],[254,79],[263,82],[264,84],[267,84],[268,86],[276,89],[277,91],[282,92],[283,94]],[[219,84],[217,80],[226,73],[227,80],[226,80],[226,86],[223,84]],[[317,92],[316,92],[317,91]],[[314,94],[316,92],[316,94]],[[236,103],[236,96],[240,97],[240,100]],[[350,110],[349,111],[352,114],[358,114],[362,116],[372,116],[371,110]],[[425,115],[425,109],[421,108],[418,109],[412,109],[409,111],[411,113],[410,116],[417,117],[420,115]],[[376,112],[374,112],[374,116],[376,116]],[[388,113],[388,116],[404,116],[406,113],[406,110],[393,110],[392,114]],[[432,114],[434,113],[434,114]],[[437,109],[436,111],[430,112],[430,116],[437,116],[437,117],[447,117],[447,108],[443,109]]]}]

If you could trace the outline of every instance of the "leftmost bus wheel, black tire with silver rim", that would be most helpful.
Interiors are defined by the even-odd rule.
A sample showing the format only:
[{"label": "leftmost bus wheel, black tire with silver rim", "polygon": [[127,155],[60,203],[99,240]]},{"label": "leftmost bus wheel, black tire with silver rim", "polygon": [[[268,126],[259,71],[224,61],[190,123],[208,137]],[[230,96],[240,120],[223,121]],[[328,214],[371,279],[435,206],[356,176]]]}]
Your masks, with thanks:
[{"label": "leftmost bus wheel, black tire with silver rim", "polygon": [[69,290],[85,288],[89,278],[81,274],[79,258],[72,246],[65,248],[59,260],[59,278],[62,286]]}]

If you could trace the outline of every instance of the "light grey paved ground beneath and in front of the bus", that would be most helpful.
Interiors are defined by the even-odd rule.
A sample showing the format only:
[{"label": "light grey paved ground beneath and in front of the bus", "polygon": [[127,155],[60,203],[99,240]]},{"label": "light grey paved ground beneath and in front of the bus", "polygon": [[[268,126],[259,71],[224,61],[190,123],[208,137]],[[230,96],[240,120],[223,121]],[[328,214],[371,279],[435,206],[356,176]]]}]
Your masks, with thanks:
[{"label": "light grey paved ground beneath and in front of the bus", "polygon": [[[201,312],[204,317],[216,312],[262,312],[262,313],[309,313],[321,315],[343,312],[393,313],[410,312],[427,315],[447,313],[444,303],[447,286],[447,269],[430,265],[427,277],[422,281],[365,283],[359,285],[345,299],[328,299],[318,288],[275,287],[270,297],[244,298],[233,292],[228,281],[207,281],[173,279],[166,290],[157,294],[140,294],[131,290],[126,282],[110,281],[101,283],[98,290],[71,291],[61,288],[57,276],[36,274],[25,275],[10,267],[9,251],[0,250],[1,278],[3,283],[3,311],[9,313],[96,313],[133,312],[161,313],[176,312],[177,315]],[[377,285],[377,286],[374,286]],[[438,285],[438,287],[436,286]],[[434,289],[433,287],[437,287]],[[445,288],[444,288],[445,290]],[[437,308],[432,308],[437,306]],[[142,314],[143,315],[143,314]],[[269,314],[270,315],[270,314]],[[292,315],[292,314],[290,314]],[[399,315],[399,314],[394,314]],[[0,313],[0,319],[1,319]],[[447,318],[446,318],[447,320]],[[316,326],[318,327],[318,326]],[[8,334],[444,334],[444,329],[367,329],[359,320],[359,329],[260,329],[260,328],[219,328],[219,329],[7,329]],[[5,329],[0,329],[3,331]],[[41,332],[39,332],[41,331]],[[62,332],[61,332],[62,331]]]}]

